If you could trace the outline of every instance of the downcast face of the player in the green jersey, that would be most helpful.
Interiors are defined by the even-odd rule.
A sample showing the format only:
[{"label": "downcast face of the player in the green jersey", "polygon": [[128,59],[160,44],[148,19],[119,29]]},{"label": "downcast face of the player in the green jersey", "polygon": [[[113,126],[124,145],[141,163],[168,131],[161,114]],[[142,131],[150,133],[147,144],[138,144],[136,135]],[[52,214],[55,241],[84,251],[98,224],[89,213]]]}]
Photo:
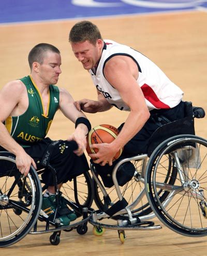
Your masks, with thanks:
[{"label": "downcast face of the player in the green jersey", "polygon": [[61,56],[58,53],[46,52],[42,64],[39,64],[39,77],[43,84],[55,85],[61,71]]}]

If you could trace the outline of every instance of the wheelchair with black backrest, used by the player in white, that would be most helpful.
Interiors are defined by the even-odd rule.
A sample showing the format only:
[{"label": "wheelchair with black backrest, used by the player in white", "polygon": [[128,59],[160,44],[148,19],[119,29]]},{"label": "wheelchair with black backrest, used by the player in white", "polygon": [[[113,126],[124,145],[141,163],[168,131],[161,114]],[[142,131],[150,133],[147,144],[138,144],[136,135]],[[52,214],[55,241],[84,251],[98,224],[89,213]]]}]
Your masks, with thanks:
[{"label": "wheelchair with black backrest, used by the player in white", "polygon": [[[194,129],[194,118],[204,116],[201,107],[185,102],[185,117],[160,126],[146,154],[121,159],[115,165],[113,186],[103,184],[91,163],[99,209],[89,221],[95,235],[102,235],[105,228],[117,230],[124,243],[125,230],[161,228],[151,221],[155,217],[181,235],[207,235],[207,141],[197,137]],[[119,170],[129,162],[134,175],[120,186]]]}]

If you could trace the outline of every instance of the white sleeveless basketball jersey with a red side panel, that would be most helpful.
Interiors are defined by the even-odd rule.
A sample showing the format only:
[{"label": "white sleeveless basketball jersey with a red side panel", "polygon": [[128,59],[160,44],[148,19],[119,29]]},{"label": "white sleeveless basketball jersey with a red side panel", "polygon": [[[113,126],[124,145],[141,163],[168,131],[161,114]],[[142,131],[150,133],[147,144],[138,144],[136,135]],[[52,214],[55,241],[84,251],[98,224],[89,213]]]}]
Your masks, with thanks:
[{"label": "white sleeveless basketball jersey with a red side panel", "polygon": [[119,91],[109,84],[103,73],[106,62],[116,55],[129,56],[137,63],[139,69],[137,84],[141,87],[149,110],[170,109],[181,102],[183,91],[173,84],[150,59],[126,45],[108,39],[104,42],[104,49],[96,73],[93,73],[92,70],[89,72],[97,90],[104,95],[110,104],[120,110],[130,111],[122,100]]}]

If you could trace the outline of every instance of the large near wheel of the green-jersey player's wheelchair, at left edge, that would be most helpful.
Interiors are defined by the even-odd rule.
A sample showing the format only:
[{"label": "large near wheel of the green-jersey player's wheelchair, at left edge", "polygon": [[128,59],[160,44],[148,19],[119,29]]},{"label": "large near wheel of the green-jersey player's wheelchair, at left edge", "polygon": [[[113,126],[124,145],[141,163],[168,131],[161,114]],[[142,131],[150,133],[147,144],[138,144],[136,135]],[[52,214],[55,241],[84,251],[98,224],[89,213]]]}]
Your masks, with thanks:
[{"label": "large near wheel of the green-jersey player's wheelchair, at left edge", "polygon": [[0,153],[0,247],[12,245],[35,225],[42,202],[41,185],[33,167],[27,177],[17,170],[15,158]]}]

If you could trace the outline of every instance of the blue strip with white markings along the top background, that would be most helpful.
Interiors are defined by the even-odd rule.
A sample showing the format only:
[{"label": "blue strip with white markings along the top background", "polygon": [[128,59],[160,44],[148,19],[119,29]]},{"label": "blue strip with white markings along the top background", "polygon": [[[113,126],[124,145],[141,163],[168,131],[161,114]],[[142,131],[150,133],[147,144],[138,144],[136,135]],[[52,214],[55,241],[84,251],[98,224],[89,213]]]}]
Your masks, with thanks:
[{"label": "blue strip with white markings along the top background", "polygon": [[[85,0],[88,2],[87,0]],[[150,8],[139,7],[121,0],[94,0],[95,3],[117,4],[115,7],[83,7],[72,4],[69,0],[5,0],[0,1],[0,23],[26,22],[39,20],[73,19],[81,17],[98,17],[110,15],[142,14],[174,10],[193,10],[198,7],[207,8],[207,1],[146,1],[151,3],[193,3],[188,8]],[[136,2],[136,0],[134,0]],[[142,1],[143,2],[143,1]]]}]

